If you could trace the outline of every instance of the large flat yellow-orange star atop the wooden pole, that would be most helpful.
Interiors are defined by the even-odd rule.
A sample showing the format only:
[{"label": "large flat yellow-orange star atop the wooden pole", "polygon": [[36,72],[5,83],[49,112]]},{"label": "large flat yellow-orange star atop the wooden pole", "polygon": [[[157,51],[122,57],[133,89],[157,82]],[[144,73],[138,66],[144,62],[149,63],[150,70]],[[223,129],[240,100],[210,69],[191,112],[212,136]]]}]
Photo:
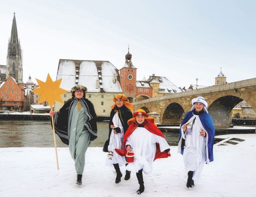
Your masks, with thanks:
[{"label": "large flat yellow-orange star atop the wooden pole", "polygon": [[61,103],[64,103],[63,100],[61,99],[61,95],[63,93],[66,93],[67,90],[64,90],[59,87],[61,85],[61,80],[62,79],[52,81],[52,78],[50,77],[50,74],[48,73],[47,79],[45,82],[43,82],[39,79],[36,79],[36,81],[39,85],[39,88],[32,90],[32,92],[40,95],[40,99],[39,99],[40,103],[47,100],[48,104],[52,108],[52,105],[54,104],[55,100],[59,101]]}]

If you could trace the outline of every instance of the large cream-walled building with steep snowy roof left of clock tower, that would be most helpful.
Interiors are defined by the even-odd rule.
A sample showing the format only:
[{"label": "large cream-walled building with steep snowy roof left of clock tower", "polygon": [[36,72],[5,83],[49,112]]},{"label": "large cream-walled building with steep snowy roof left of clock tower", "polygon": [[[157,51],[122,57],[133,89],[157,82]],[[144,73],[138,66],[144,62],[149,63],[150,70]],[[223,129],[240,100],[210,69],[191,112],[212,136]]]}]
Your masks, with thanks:
[{"label": "large cream-walled building with steep snowy roof left of clock tower", "polygon": [[[97,116],[109,116],[114,95],[123,93],[118,69],[109,61],[60,59],[56,80],[61,78],[60,87],[69,91],[61,95],[62,100],[71,98],[73,86],[83,85],[87,88],[85,97],[93,103]],[[55,111],[62,105],[55,102]]]}]

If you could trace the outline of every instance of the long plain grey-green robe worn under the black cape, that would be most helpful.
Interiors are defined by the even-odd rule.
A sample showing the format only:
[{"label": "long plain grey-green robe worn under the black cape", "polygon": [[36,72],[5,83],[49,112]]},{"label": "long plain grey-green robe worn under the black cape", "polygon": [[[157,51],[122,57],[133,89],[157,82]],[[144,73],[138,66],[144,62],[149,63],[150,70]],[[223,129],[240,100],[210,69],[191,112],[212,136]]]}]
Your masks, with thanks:
[{"label": "long plain grey-green robe worn under the black cape", "polygon": [[85,152],[90,142],[90,132],[86,130],[85,122],[88,117],[85,114],[83,107],[78,111],[78,102],[74,107],[70,124],[69,136],[69,152],[75,162],[76,173],[83,174],[85,167]]}]

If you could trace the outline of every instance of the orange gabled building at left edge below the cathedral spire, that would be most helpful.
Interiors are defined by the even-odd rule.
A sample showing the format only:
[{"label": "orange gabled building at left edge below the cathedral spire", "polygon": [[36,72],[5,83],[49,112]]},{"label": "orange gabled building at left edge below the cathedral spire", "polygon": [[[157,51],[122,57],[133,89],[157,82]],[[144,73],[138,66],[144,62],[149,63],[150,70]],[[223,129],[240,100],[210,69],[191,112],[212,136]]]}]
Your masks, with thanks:
[{"label": "orange gabled building at left edge below the cathedral spire", "polygon": [[24,87],[13,77],[9,77],[0,85],[0,110],[23,110]]}]

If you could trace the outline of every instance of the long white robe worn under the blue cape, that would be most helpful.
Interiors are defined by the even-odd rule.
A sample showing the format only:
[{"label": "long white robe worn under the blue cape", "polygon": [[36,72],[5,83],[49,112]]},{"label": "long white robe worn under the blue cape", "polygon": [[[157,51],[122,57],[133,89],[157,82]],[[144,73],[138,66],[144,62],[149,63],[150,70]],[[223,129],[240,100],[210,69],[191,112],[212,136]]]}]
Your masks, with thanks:
[{"label": "long white robe worn under the blue cape", "polygon": [[[199,116],[194,115],[185,124],[192,124],[195,119],[194,125],[192,127],[192,134],[187,135],[182,129],[182,138],[185,139],[185,148],[183,151],[183,161],[185,165],[185,170],[194,171],[193,179],[199,178],[202,167],[208,158],[206,140],[208,138],[207,132],[206,137],[200,135],[200,129],[204,129],[200,121]],[[183,125],[182,125],[183,126]],[[181,143],[180,139],[180,143]],[[208,159],[209,160],[209,159]]]}]

